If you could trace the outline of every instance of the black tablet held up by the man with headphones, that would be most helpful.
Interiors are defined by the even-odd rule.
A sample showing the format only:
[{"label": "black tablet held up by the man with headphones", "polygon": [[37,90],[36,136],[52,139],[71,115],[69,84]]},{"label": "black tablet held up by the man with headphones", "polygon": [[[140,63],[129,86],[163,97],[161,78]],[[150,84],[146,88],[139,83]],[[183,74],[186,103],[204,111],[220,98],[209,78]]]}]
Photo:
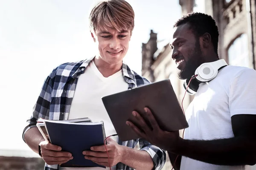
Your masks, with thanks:
[{"label": "black tablet held up by the man with headphones", "polygon": [[142,113],[147,119],[144,107],[151,109],[163,130],[175,131],[189,126],[169,79],[104,96],[102,102],[122,141],[139,138],[131,127],[126,125],[126,121],[137,124],[132,111]]}]

